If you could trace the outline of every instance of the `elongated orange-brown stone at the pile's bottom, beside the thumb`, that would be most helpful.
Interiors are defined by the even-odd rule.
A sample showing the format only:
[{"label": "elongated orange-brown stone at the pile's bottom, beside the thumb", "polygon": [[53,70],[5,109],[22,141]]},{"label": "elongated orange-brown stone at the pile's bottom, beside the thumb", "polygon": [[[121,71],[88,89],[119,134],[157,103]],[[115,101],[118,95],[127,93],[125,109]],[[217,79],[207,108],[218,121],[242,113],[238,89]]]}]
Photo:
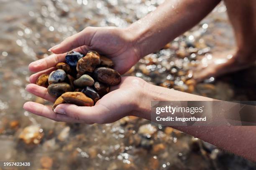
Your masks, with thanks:
[{"label": "elongated orange-brown stone at the pile's bottom, beside the thumb", "polygon": [[91,98],[82,92],[66,92],[61,95],[65,102],[78,106],[93,106],[94,102]]}]

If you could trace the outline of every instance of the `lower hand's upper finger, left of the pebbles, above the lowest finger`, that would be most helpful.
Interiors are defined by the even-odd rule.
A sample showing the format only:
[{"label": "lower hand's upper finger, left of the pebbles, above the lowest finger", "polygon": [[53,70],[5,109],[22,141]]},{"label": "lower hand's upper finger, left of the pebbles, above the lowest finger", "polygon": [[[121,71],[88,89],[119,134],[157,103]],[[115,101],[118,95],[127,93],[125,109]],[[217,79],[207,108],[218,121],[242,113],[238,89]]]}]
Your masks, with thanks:
[{"label": "lower hand's upper finger, left of the pebbles, above the lowest finger", "polygon": [[47,92],[47,88],[45,87],[36,84],[28,84],[26,86],[26,90],[38,97],[41,97],[45,100],[49,100],[50,102],[54,102],[56,100],[56,98],[49,95],[49,93]]}]

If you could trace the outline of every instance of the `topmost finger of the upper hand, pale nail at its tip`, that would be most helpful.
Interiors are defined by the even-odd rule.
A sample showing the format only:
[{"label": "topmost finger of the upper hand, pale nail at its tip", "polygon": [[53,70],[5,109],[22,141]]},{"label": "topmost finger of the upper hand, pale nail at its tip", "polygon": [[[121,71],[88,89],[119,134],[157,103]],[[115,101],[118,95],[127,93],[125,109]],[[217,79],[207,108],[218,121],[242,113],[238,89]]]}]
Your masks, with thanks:
[{"label": "topmost finger of the upper hand, pale nail at its tip", "polygon": [[66,38],[59,45],[55,45],[54,47],[51,47],[49,51],[55,54],[61,54],[64,52],[71,51],[72,49],[83,46],[83,45],[90,46],[91,40],[94,37],[96,30],[97,28],[95,27],[87,27],[81,32],[78,32],[77,34],[74,34]]}]

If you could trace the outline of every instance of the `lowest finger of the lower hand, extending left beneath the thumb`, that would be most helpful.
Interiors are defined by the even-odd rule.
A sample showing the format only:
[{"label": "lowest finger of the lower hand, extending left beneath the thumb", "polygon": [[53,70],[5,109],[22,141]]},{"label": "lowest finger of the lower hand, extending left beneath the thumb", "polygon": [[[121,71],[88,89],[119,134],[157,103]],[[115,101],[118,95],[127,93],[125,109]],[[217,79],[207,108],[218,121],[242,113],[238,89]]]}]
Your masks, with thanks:
[{"label": "lowest finger of the lower hand, extending left beneath the thumb", "polygon": [[61,115],[61,114],[55,113],[50,106],[45,106],[36,102],[26,102],[23,105],[23,108],[35,115],[47,117],[51,120],[55,120],[59,122],[82,122],[79,120],[72,119],[67,115]]}]

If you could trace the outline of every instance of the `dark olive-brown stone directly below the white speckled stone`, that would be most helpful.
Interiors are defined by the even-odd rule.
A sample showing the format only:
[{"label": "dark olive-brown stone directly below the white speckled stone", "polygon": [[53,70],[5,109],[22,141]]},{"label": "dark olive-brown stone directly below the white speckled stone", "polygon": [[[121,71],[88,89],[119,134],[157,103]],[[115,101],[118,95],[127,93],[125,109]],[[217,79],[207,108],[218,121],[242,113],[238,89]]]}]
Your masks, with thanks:
[{"label": "dark olive-brown stone directly below the white speckled stone", "polygon": [[59,97],[65,92],[72,91],[72,87],[66,82],[61,82],[49,85],[47,91],[49,95],[53,97]]}]

